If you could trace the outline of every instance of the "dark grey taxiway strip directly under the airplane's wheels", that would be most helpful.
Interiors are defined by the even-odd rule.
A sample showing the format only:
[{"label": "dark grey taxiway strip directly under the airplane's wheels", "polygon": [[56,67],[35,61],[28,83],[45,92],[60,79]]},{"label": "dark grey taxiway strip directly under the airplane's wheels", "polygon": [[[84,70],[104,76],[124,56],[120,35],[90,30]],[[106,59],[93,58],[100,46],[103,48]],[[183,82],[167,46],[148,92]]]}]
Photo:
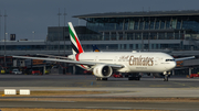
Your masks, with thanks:
[{"label": "dark grey taxiway strip directly under the airplane's wheels", "polygon": [[140,81],[127,78],[108,78],[107,81],[96,81],[94,76],[32,76],[0,75],[0,87],[86,87],[86,88],[199,88],[199,78],[171,77],[169,81],[163,78],[143,77]]}]

